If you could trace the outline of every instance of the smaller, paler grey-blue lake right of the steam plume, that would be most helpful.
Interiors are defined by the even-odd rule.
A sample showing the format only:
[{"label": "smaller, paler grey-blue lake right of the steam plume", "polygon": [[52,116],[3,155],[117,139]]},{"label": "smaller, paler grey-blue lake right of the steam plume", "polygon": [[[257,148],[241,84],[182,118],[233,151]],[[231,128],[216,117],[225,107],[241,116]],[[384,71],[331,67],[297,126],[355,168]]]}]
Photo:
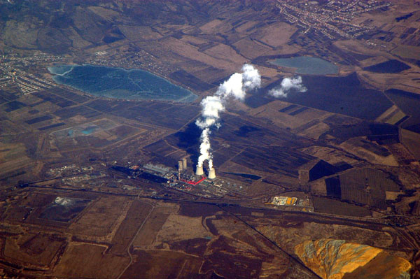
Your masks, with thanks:
[{"label": "smaller, paler grey-blue lake right of the steam plume", "polygon": [[296,73],[307,75],[332,75],[338,73],[338,66],[317,57],[299,56],[291,58],[277,58],[269,63],[295,68]]}]

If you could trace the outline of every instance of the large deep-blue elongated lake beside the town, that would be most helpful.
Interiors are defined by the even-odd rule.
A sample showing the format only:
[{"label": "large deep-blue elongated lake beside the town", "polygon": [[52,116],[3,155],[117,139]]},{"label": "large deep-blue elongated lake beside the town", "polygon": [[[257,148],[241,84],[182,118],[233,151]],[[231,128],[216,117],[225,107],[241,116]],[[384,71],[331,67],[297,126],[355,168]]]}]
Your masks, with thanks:
[{"label": "large deep-blue elongated lake beside the town", "polygon": [[56,83],[77,90],[116,99],[141,99],[191,102],[197,95],[170,83],[165,78],[139,69],[125,70],[93,65],[48,67]]}]

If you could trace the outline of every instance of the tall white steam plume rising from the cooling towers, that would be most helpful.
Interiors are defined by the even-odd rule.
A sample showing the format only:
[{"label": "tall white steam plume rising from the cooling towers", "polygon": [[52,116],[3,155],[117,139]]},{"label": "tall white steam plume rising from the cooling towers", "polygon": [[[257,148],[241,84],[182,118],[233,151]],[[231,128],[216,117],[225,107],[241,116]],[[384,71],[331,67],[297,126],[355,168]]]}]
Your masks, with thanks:
[{"label": "tall white steam plume rising from the cooling towers", "polygon": [[200,157],[197,166],[201,167],[205,160],[209,161],[209,168],[213,168],[213,156],[211,155],[211,145],[209,136],[210,128],[214,125],[220,126],[218,120],[220,113],[225,110],[225,101],[233,97],[243,101],[246,90],[253,90],[260,87],[261,76],[258,70],[249,64],[242,66],[242,73],[234,73],[228,80],[219,85],[217,92],[213,96],[202,99],[202,117],[197,119],[195,124],[202,129],[200,136]]}]

